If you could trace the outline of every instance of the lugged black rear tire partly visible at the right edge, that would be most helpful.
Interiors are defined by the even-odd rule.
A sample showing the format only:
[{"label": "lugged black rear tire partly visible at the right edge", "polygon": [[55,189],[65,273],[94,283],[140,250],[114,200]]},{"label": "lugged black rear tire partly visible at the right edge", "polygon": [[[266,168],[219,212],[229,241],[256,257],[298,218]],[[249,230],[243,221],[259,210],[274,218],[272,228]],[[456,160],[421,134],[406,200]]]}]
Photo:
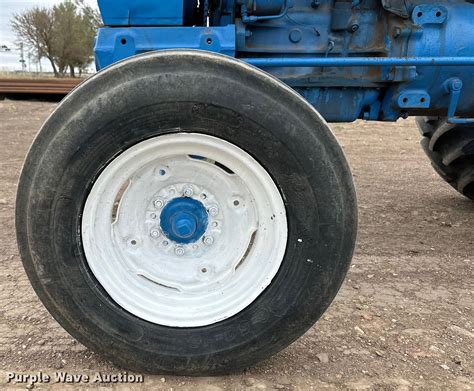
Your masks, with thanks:
[{"label": "lugged black rear tire partly visible at the right edge", "polygon": [[474,127],[446,118],[418,117],[421,146],[435,171],[459,193],[474,200]]}]

